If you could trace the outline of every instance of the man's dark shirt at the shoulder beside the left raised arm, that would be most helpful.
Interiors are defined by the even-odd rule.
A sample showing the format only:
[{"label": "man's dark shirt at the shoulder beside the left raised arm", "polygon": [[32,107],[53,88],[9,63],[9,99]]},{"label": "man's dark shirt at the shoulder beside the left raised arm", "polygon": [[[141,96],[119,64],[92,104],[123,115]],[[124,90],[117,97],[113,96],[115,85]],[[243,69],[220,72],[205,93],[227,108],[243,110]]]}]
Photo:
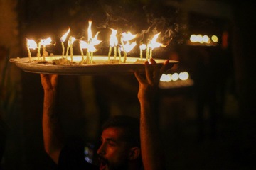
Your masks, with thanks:
[{"label": "man's dark shirt at the shoulder beside the left raised arm", "polygon": [[98,170],[99,167],[85,161],[83,151],[76,147],[66,145],[60,152],[58,160],[58,169],[60,170]]}]

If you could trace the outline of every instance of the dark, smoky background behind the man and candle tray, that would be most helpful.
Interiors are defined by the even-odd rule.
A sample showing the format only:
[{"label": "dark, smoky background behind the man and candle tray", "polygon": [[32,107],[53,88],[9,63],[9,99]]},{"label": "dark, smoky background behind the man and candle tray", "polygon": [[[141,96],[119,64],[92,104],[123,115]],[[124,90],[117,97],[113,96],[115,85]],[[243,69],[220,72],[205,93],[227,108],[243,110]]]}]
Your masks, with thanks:
[{"label": "dark, smoky background behind the man and candle tray", "polygon": [[[179,60],[171,72],[187,71],[194,84],[160,89],[156,98],[168,169],[255,168],[255,2],[12,0],[0,5],[6,9],[0,26],[1,169],[55,168],[43,149],[40,76],[17,69],[9,58],[27,56],[26,38],[49,36],[56,45],[48,52],[60,55],[59,38],[68,27],[70,35],[86,37],[89,19],[92,34],[100,31],[101,40],[110,35],[107,28],[141,33],[149,27],[149,35],[157,28],[166,35],[163,42],[172,39],[153,55]],[[220,41],[214,47],[188,45],[190,35],[199,33]],[[107,44],[102,42],[95,55],[106,55]],[[138,49],[130,55],[139,57]],[[100,125],[109,116],[139,118],[134,75],[59,78],[61,125],[68,139],[90,142],[96,151]]]}]

